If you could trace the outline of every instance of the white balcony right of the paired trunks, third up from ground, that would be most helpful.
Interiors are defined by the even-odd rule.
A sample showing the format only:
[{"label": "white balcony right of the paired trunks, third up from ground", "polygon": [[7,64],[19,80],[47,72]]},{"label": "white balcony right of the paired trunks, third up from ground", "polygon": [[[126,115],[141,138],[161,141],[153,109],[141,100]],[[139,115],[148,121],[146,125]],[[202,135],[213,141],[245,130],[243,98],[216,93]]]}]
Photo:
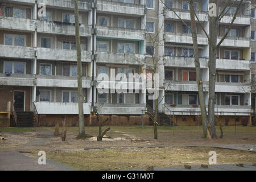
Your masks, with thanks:
[{"label": "white balcony right of the paired trunks, third up from ground", "polygon": [[250,71],[250,61],[246,60],[231,60],[231,59],[216,59],[216,69],[233,69]]}]

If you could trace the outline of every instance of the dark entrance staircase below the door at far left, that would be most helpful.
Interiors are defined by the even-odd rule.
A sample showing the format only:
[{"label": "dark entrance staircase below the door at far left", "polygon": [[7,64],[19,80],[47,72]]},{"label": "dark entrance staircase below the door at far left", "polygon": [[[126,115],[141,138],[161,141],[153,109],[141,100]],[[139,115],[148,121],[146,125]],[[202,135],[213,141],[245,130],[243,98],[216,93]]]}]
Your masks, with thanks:
[{"label": "dark entrance staircase below the door at far left", "polygon": [[16,112],[17,127],[33,127],[35,115],[33,112]]}]

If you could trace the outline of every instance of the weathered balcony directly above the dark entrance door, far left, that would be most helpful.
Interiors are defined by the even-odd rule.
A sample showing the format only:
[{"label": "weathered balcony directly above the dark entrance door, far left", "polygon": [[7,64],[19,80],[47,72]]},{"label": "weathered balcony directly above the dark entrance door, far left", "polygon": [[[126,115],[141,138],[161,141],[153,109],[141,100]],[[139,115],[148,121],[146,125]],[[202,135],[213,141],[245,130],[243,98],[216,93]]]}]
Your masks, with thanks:
[{"label": "weathered balcony directly above the dark entrance door, far left", "polygon": [[34,86],[35,77],[25,74],[11,74],[6,76],[5,73],[0,73],[0,85],[9,86]]}]

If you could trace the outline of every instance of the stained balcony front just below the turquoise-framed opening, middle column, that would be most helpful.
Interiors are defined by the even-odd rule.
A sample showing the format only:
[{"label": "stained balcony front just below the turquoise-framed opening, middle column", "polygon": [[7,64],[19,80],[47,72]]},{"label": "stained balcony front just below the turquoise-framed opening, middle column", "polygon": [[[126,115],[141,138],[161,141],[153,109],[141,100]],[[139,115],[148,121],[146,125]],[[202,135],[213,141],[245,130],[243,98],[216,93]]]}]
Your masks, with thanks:
[{"label": "stained balcony front just below the turquoise-framed opening, middle column", "polygon": [[145,56],[133,53],[97,52],[97,63],[142,65]]}]

